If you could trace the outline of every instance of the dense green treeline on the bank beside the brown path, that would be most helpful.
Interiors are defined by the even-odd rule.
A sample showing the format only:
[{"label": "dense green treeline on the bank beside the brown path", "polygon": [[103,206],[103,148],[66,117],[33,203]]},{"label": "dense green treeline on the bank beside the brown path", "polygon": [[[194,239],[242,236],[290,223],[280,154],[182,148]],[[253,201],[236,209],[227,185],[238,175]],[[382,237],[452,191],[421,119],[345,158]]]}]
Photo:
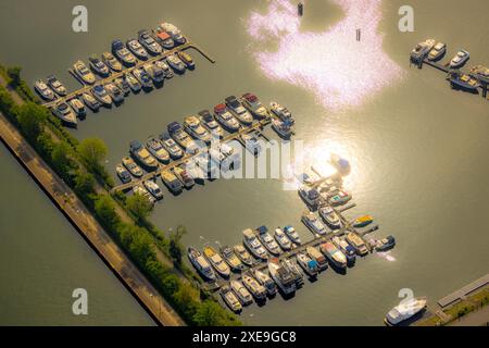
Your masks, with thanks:
[{"label": "dense green treeline on the bank beside the brown path", "polygon": [[[143,197],[134,195],[126,199],[124,195],[115,194],[112,197],[106,191],[97,191],[97,182],[103,184],[105,188],[113,186],[112,177],[106,174],[103,166],[108,153],[105,144],[97,138],[87,138],[78,142],[47,108],[36,102],[36,97],[33,97],[30,89],[20,78],[20,70],[11,75],[10,73],[9,83],[24,98],[25,103],[17,105],[10,92],[0,86],[0,111],[73,188],[184,320],[190,325],[200,326],[240,325],[235,314],[222,308],[215,299],[200,290],[192,282],[181,279],[174,268],[163,264],[158,259],[155,246],[170,256],[175,266],[185,272],[181,264],[184,249],[180,245],[185,228],[180,226],[166,236],[148,221],[152,207]],[[12,84],[13,82],[15,83]],[[123,221],[117,213],[116,201],[133,217],[131,223]]]}]

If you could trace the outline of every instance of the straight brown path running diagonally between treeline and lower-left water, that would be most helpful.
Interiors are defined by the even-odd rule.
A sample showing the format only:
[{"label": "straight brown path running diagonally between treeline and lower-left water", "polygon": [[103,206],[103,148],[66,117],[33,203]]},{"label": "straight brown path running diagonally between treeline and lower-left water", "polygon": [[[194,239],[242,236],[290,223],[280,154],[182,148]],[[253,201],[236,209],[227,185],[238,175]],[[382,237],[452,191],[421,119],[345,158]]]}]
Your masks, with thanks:
[{"label": "straight brown path running diagonally between treeline and lower-left water", "polygon": [[[0,77],[0,83],[4,84],[2,77]],[[13,97],[16,102],[22,101],[16,94],[13,94]],[[181,318],[112,241],[72,189],[42,161],[2,114],[0,114],[0,138],[156,323],[164,326],[185,325]]]}]

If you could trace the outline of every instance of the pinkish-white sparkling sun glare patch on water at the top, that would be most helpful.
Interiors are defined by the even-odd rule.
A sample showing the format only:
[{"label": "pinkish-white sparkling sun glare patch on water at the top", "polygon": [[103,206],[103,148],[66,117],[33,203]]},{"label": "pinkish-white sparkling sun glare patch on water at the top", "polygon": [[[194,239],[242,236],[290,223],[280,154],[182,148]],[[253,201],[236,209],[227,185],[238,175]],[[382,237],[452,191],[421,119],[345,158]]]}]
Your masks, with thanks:
[{"label": "pinkish-white sparkling sun glare patch on water at the top", "polygon": [[[268,78],[311,90],[325,108],[356,107],[405,72],[381,50],[381,0],[331,1],[344,17],[325,32],[310,33],[301,32],[290,0],[272,0],[266,13],[252,12],[246,21],[254,41],[250,47]],[[271,42],[275,51],[262,50]]]}]

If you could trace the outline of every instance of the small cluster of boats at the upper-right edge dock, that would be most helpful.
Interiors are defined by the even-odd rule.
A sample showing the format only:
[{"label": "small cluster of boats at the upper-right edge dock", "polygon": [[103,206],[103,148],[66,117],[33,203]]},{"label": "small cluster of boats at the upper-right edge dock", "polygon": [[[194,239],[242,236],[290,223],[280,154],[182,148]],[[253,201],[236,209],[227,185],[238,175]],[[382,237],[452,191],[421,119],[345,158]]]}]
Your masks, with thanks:
[{"label": "small cluster of boats at the upper-right edge dock", "polygon": [[[439,61],[447,52],[447,45],[444,42],[437,42],[434,39],[427,39],[416,45],[411,51],[411,61],[422,63],[425,59],[428,61]],[[461,69],[469,60],[471,53],[467,50],[461,49],[453,55],[449,63],[447,79],[452,87],[460,87],[467,90],[477,90],[481,84],[489,84],[489,69],[482,65],[475,65],[471,67],[468,73],[463,73]]]}]

